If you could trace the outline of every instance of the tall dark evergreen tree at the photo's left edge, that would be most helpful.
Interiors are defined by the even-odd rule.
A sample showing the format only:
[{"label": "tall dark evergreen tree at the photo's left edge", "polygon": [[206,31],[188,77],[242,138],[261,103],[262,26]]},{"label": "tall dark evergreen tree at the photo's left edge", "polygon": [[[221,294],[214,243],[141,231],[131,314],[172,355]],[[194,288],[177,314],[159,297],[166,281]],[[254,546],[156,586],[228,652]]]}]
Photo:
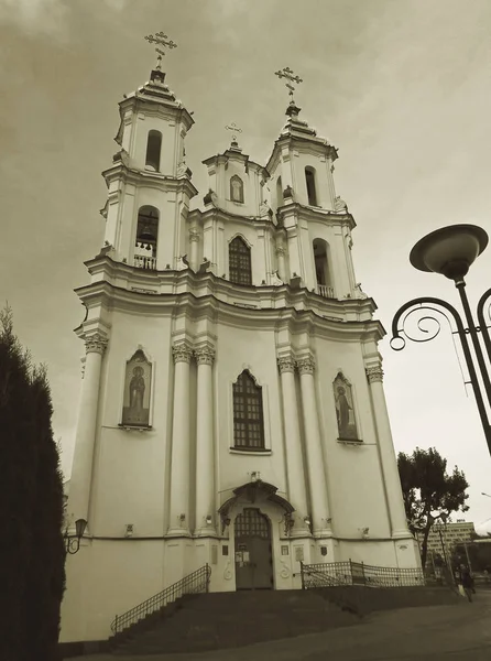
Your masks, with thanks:
[{"label": "tall dark evergreen tree at the photo's left edge", "polygon": [[0,313],[0,659],[57,659],[65,585],[63,480],[44,368]]}]

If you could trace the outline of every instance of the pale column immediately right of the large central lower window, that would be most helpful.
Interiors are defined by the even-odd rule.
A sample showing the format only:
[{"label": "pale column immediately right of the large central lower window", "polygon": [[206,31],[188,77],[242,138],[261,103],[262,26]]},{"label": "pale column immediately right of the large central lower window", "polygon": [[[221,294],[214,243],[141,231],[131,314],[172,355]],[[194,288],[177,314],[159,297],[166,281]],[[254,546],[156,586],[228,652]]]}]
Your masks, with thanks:
[{"label": "pale column immediately right of the large central lower window", "polygon": [[292,356],[282,356],[277,359],[277,367],[282,382],[288,499],[295,508],[295,525],[292,530],[292,537],[296,537],[306,532],[304,519],[308,514],[308,509],[298,405],[295,392],[295,360]]}]

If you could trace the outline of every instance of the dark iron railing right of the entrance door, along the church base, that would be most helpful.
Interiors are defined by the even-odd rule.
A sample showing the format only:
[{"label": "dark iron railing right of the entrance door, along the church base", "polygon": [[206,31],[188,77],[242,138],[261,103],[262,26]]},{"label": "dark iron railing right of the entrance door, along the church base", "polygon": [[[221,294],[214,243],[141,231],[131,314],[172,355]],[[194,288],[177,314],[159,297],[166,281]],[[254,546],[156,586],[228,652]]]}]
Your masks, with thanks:
[{"label": "dark iron railing right of the entrance door, along the church base", "polygon": [[422,570],[379,567],[360,562],[301,563],[302,588],[363,585],[364,587],[406,587],[425,585]]}]

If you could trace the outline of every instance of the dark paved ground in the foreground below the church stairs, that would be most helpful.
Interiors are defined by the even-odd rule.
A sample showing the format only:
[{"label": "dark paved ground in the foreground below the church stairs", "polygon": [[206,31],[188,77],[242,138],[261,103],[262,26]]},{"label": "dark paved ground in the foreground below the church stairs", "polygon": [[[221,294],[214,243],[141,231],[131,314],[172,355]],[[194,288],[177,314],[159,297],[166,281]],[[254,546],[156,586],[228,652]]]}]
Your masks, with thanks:
[{"label": "dark paved ground in the foreground below the church stairs", "polygon": [[[78,657],[78,661],[490,661],[491,592],[456,606],[373,614],[362,624],[326,633],[200,654]],[[76,661],[76,660],[74,660]]]}]

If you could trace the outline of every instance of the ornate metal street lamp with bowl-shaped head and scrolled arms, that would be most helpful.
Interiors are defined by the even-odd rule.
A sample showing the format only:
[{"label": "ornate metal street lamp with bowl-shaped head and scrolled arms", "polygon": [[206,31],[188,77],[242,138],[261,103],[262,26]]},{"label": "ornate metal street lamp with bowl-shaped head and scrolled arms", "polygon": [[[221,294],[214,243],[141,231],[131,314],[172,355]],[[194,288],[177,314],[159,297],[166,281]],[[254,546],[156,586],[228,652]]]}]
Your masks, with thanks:
[{"label": "ornate metal street lamp with bowl-shaped head and scrolled arms", "polygon": [[[449,280],[454,280],[460,295],[467,327],[465,327],[460,314],[452,305],[450,305],[450,303],[430,296],[413,299],[400,307],[395,313],[392,321],[391,347],[396,351],[404,348],[405,339],[402,335],[405,335],[407,339],[413,342],[428,342],[433,339],[440,332],[440,322],[439,318],[435,316],[435,313],[446,317],[452,333],[457,333],[460,338],[466,365],[469,370],[470,383],[472,384],[482,429],[491,454],[491,426],[484,404],[484,398],[482,395],[481,383],[478,379],[478,371],[468,342],[468,335],[470,335],[488,404],[491,407],[491,380],[480,342],[480,338],[482,337],[488,359],[491,361],[491,337],[488,329],[488,322],[484,318],[484,306],[487,306],[485,316],[488,319],[490,318],[491,289],[487,290],[479,300],[477,306],[478,325],[476,325],[466,293],[466,281],[463,279],[472,262],[481,254],[487,246],[487,232],[476,225],[452,225],[437,229],[421,239],[414,246],[410,254],[410,261],[415,269],[418,269],[419,271],[433,271],[434,273],[445,275]],[[412,337],[405,329],[405,323],[413,313],[421,311],[427,311],[427,314],[419,318],[417,329],[427,336],[423,336],[422,338]],[[432,332],[422,326],[422,323],[427,322],[428,319],[436,322],[436,330]],[[457,330],[454,329],[451,319],[454,319]]]}]

